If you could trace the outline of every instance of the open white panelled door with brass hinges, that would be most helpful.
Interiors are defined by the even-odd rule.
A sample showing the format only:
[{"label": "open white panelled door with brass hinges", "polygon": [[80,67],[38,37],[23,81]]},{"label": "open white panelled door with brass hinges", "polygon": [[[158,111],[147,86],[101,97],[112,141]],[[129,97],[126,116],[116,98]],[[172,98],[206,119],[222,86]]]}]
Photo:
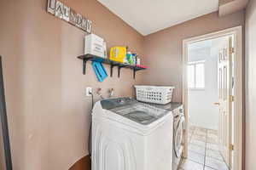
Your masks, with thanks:
[{"label": "open white panelled door with brass hinges", "polygon": [[227,37],[218,54],[219,151],[231,168],[232,149],[232,37]]}]

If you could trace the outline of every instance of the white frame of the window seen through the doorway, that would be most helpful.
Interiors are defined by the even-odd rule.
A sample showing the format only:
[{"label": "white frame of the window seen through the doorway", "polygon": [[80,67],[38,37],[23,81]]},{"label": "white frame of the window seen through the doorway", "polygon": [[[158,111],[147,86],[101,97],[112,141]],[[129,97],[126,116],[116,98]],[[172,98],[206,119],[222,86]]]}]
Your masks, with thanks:
[{"label": "white frame of the window seen through the doorway", "polygon": [[[203,64],[204,65],[204,88],[196,88],[196,65]],[[189,90],[205,90],[206,89],[206,60],[196,60],[196,61],[189,61],[188,65],[193,65],[194,67],[194,88],[189,88],[189,82],[188,82],[188,88]],[[189,78],[188,78],[189,81]]]}]

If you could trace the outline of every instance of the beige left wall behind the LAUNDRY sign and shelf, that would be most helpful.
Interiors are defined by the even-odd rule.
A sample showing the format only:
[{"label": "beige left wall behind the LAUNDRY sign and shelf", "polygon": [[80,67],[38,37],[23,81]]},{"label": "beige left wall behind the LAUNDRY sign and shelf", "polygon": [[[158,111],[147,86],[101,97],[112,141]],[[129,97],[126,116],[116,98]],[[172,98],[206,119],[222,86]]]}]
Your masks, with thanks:
[{"label": "beige left wall behind the LAUNDRY sign and shelf", "polygon": [[[90,98],[85,88],[115,88],[133,95],[142,77],[123,69],[121,78],[97,82],[88,64],[82,74],[84,31],[46,13],[46,0],[0,0],[0,54],[3,55],[9,130],[15,170],[63,170],[88,154]],[[128,45],[143,53],[143,37],[96,0],[68,5],[93,21],[93,32],[108,47]],[[106,65],[109,72],[109,65]]]}]

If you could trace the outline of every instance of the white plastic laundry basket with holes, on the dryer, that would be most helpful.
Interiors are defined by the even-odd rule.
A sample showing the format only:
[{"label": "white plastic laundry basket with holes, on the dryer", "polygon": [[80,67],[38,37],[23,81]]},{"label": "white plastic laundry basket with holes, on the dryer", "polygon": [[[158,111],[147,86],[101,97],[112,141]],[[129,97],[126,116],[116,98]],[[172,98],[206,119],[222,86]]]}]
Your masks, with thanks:
[{"label": "white plastic laundry basket with holes, on the dryer", "polygon": [[166,105],[172,102],[174,87],[166,86],[134,86],[138,101]]}]

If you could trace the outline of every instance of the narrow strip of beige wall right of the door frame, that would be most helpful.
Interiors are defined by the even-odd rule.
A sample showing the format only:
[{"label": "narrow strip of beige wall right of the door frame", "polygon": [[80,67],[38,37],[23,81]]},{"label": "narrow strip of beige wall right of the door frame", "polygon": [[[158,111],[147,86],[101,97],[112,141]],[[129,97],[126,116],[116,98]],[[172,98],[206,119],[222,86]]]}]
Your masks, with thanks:
[{"label": "narrow strip of beige wall right of the door frame", "polygon": [[246,170],[256,169],[256,1],[246,12]]}]

